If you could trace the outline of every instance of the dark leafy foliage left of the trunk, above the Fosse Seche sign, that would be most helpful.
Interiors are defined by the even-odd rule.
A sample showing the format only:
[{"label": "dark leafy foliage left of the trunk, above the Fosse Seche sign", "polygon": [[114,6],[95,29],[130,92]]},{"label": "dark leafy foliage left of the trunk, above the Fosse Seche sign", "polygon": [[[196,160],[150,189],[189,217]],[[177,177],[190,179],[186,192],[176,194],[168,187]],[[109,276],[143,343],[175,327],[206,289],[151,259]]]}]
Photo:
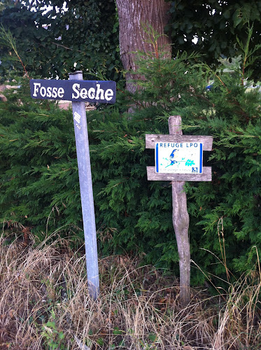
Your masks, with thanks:
[{"label": "dark leafy foliage left of the trunk, above the Fosse Seche sign", "polygon": [[[43,7],[52,6],[48,12]],[[85,78],[94,76],[117,80],[121,69],[118,49],[118,18],[113,0],[109,1],[31,1],[6,5],[0,22],[10,31],[29,76],[68,78],[83,70]],[[0,75],[10,78],[23,73],[16,55],[0,43]]]}]

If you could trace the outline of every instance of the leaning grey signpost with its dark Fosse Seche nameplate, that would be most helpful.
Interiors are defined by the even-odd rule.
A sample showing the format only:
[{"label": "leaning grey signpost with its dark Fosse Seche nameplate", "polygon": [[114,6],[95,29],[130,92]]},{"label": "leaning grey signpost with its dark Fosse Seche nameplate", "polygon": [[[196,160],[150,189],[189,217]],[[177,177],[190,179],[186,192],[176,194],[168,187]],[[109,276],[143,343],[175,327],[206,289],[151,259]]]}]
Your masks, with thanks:
[{"label": "leaning grey signpost with its dark Fosse Seche nameplate", "polygon": [[82,71],[69,74],[69,80],[30,80],[31,97],[34,99],[59,99],[72,102],[87,282],[90,296],[94,300],[99,295],[99,269],[85,102],[113,104],[116,95],[115,87],[114,81],[83,80]]}]

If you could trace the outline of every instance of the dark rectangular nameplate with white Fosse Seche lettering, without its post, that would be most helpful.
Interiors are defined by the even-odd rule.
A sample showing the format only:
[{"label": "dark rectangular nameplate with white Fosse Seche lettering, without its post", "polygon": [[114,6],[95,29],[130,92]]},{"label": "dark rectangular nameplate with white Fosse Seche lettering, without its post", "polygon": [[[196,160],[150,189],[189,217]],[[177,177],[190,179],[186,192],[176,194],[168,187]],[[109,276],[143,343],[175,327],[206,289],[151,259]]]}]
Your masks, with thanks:
[{"label": "dark rectangular nameplate with white Fosse Seche lettering, without its post", "polygon": [[58,99],[73,102],[114,104],[115,81],[105,80],[30,80],[33,99]]}]

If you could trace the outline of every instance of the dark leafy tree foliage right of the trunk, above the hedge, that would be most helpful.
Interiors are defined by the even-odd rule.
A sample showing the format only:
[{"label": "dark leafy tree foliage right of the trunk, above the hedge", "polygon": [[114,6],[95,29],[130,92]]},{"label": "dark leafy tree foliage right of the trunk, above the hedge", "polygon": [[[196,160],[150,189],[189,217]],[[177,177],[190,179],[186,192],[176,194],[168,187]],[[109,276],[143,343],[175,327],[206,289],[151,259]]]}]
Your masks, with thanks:
[{"label": "dark leafy tree foliage right of the trunk, above the hedge", "polygon": [[[260,15],[261,3],[256,0],[172,1],[167,32],[174,50],[199,52],[207,64],[216,65],[220,55],[229,59],[241,55],[237,38],[246,45],[249,22],[253,23],[250,48],[260,43]],[[260,58],[252,69],[252,78],[260,80]]]}]

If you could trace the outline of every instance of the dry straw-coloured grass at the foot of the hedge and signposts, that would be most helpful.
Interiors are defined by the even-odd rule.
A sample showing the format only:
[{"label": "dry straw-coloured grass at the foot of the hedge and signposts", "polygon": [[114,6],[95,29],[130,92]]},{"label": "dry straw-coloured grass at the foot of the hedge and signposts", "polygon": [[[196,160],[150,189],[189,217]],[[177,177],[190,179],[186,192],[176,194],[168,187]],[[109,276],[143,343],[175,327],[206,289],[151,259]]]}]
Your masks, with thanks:
[{"label": "dry straw-coloured grass at the foot of the hedge and signposts", "polygon": [[[87,294],[85,257],[66,241],[0,237],[0,349],[260,349],[260,276],[230,294],[192,290],[127,256],[99,260],[101,293]],[[260,281],[260,279],[259,279]]]}]

